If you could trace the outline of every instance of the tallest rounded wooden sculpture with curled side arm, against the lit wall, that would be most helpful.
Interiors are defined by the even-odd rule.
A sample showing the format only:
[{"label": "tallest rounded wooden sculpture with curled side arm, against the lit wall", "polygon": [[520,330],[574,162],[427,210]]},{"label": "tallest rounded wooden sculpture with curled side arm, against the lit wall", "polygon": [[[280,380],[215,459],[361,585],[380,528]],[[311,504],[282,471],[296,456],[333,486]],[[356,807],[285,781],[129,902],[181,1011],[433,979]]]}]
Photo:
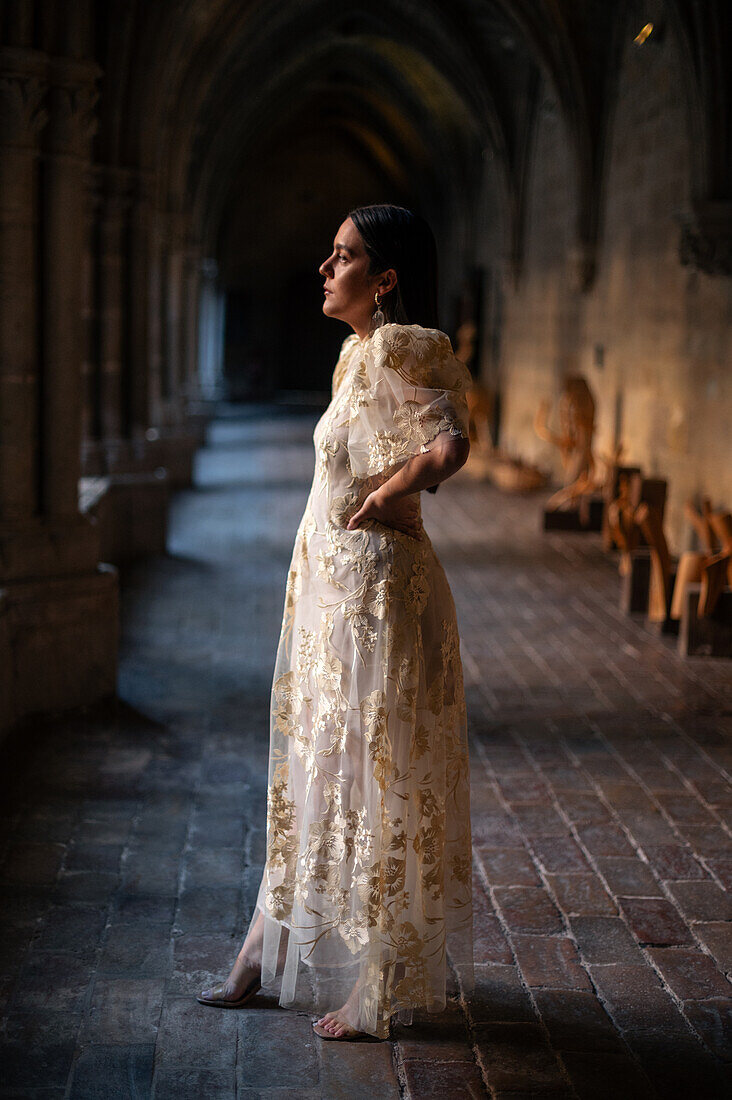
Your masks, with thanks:
[{"label": "tallest rounded wooden sculpture with curled side arm, against the lit wall", "polygon": [[534,430],[540,439],[559,449],[565,471],[565,485],[549,497],[548,512],[573,506],[597,488],[596,461],[592,454],[594,435],[594,398],[581,375],[569,375],[559,396],[559,431],[547,425],[549,402],[543,400],[534,417]]}]

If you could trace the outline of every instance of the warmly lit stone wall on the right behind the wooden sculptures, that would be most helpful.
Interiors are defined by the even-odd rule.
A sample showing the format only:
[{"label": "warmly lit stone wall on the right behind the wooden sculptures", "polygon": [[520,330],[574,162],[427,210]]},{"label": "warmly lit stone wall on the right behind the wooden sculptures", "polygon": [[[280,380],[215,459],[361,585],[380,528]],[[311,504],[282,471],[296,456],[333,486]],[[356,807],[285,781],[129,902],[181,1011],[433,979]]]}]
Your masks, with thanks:
[{"label": "warmly lit stone wall on the right behind the wooden sculptures", "polygon": [[684,502],[709,495],[732,508],[732,279],[679,261],[679,216],[690,200],[690,111],[669,26],[642,47],[629,28],[610,123],[598,275],[568,284],[576,196],[559,112],[546,96],[533,152],[523,275],[509,292],[501,442],[560,466],[534,433],[542,397],[579,370],[598,407],[600,451],[615,422],[624,458],[669,482],[671,549],[691,546]]}]

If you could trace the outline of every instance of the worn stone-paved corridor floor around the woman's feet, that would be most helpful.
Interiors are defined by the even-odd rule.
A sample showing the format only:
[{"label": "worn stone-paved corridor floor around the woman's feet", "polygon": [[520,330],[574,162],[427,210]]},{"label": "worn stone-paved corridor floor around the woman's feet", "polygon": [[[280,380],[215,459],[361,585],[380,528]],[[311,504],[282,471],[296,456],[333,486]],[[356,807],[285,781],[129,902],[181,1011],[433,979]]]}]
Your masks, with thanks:
[{"label": "worn stone-paved corridor floor around the woman's feet", "polygon": [[[229,410],[230,411],[230,410]],[[226,413],[226,410],[222,410]],[[323,1043],[221,1012],[264,844],[267,703],[316,414],[223,416],[127,571],[120,701],[14,738],[2,818],[0,1096],[731,1094],[732,670],[618,607],[598,536],[462,471],[423,510],[454,588],[472,752],[466,1003]]]}]

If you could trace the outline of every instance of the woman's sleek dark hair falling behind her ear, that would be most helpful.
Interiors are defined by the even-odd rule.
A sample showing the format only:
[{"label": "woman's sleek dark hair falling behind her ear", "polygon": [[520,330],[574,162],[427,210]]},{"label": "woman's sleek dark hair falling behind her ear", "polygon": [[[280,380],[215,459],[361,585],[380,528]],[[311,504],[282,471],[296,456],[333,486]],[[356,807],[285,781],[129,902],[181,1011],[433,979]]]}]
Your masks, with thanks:
[{"label": "woman's sleek dark hair falling behind her ear", "polygon": [[389,267],[396,272],[396,286],[381,299],[386,321],[439,328],[437,246],[425,219],[389,204],[357,207],[347,217],[358,229],[371,261],[369,275]]}]

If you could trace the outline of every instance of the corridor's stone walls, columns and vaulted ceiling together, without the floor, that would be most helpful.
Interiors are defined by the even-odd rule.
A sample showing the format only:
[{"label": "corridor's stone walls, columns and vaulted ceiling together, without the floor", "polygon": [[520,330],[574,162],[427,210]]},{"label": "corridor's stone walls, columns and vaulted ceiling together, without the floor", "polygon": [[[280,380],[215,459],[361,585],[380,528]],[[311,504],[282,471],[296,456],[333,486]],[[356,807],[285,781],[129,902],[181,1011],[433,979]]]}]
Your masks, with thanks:
[{"label": "corridor's stone walls, columns and vaulted ceiling together, without the floor", "polygon": [[561,479],[533,420],[580,374],[671,551],[730,507],[722,0],[61,10],[0,13],[0,728],[113,692],[110,565],[164,547],[209,403],[327,392],[362,202],[434,227],[493,444]]}]

